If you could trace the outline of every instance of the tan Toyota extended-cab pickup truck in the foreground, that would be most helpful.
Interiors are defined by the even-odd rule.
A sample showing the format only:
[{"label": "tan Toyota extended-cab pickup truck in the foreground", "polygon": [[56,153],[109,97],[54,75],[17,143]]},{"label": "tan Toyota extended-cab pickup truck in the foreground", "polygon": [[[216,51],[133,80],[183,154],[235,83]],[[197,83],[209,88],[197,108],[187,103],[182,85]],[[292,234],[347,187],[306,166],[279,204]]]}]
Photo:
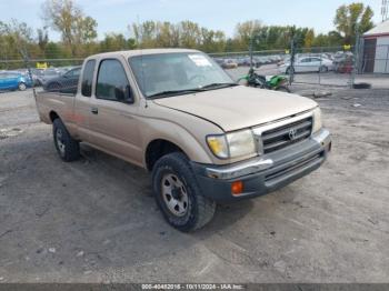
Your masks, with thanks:
[{"label": "tan Toyota extended-cab pickup truck in the foreground", "polygon": [[217,202],[308,174],[331,149],[315,101],[239,86],[196,50],[91,56],[74,94],[64,91],[36,97],[61,159],[77,160],[83,142],[147,169],[166,220],[181,231],[209,222]]}]

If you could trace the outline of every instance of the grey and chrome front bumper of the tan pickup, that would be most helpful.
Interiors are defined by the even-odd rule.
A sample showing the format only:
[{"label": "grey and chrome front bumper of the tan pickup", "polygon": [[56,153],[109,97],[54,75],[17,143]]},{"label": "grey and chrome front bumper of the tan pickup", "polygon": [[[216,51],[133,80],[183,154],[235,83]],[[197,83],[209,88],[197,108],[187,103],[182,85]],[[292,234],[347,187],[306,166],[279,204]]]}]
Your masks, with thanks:
[{"label": "grey and chrome front bumper of the tan pickup", "polygon": [[[261,158],[229,165],[192,162],[202,194],[217,202],[253,198],[272,192],[318,169],[331,150],[330,133],[321,129],[309,139]],[[232,194],[231,184],[243,191]]]}]

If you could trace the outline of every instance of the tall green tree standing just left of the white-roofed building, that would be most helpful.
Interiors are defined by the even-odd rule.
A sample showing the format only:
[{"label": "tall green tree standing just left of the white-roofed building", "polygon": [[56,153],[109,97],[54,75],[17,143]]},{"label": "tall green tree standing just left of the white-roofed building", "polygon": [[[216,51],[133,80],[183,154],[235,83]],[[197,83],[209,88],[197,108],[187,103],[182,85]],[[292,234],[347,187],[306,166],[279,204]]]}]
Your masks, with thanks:
[{"label": "tall green tree standing just left of the white-roofed building", "polygon": [[373,12],[369,6],[356,2],[339,7],[333,23],[343,37],[345,44],[353,44],[356,33],[363,33],[373,27],[372,17]]}]

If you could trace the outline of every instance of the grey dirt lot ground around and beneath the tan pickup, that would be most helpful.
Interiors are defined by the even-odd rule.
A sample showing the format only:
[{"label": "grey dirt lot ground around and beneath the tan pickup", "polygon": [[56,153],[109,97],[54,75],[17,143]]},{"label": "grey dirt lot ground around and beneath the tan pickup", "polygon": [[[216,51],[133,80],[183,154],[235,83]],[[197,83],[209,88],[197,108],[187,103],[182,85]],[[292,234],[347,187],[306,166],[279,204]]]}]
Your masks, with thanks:
[{"label": "grey dirt lot ground around and beneath the tan pickup", "polygon": [[61,162],[31,92],[0,94],[0,282],[387,282],[389,90],[318,101],[328,162],[184,234],[148,173],[87,148]]}]

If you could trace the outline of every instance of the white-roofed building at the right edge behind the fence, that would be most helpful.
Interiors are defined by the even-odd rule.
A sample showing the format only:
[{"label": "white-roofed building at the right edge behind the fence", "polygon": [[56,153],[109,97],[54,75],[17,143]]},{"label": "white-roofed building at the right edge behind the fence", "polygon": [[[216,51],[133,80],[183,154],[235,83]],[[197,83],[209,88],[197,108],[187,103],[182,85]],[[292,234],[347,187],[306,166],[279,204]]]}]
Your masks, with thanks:
[{"label": "white-roofed building at the right edge behind the fence", "polygon": [[389,73],[389,20],[363,34],[363,72]]}]

